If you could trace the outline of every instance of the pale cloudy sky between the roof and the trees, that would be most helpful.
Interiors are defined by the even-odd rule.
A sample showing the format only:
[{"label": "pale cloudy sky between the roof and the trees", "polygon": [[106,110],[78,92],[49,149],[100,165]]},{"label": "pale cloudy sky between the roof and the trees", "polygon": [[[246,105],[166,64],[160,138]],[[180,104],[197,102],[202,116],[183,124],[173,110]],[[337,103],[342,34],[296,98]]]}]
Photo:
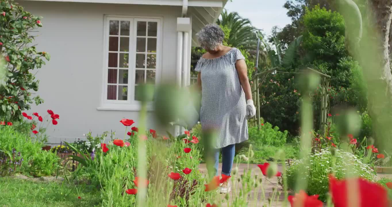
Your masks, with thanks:
[{"label": "pale cloudy sky between the roof and the trees", "polygon": [[283,28],[291,23],[287,10],[283,8],[286,0],[232,0],[227,1],[225,9],[236,11],[243,18],[248,18],[252,25],[263,29],[265,35],[271,34],[274,26]]}]

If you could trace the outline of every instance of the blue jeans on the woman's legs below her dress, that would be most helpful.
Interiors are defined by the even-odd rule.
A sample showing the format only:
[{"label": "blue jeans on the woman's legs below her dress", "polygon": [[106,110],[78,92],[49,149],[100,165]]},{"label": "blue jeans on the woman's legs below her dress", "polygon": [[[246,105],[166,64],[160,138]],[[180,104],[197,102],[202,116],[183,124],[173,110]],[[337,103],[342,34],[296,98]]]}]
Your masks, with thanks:
[{"label": "blue jeans on the woman's legs below her dress", "polygon": [[[210,177],[215,174],[218,176],[218,165],[219,165],[219,151],[222,150],[222,174],[230,176],[231,168],[233,167],[234,155],[235,155],[236,145],[228,145],[222,149],[214,149],[212,151],[214,162],[214,169],[209,169]],[[207,163],[208,165],[209,163]],[[211,165],[212,163],[210,163]]]}]

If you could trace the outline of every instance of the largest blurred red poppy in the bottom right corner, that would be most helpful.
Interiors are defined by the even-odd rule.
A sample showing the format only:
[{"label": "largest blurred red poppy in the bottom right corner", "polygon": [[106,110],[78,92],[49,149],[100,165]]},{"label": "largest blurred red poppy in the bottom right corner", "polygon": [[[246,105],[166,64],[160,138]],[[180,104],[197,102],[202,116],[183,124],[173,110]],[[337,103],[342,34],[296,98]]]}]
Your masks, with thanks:
[{"label": "largest blurred red poppy in the bottom right corner", "polygon": [[[358,207],[387,207],[387,190],[377,183],[369,182],[363,178],[349,178],[349,182],[356,182],[358,186]],[[347,207],[348,180],[337,180],[334,176],[329,177],[329,190],[335,207]],[[350,189],[352,190],[352,189]]]}]

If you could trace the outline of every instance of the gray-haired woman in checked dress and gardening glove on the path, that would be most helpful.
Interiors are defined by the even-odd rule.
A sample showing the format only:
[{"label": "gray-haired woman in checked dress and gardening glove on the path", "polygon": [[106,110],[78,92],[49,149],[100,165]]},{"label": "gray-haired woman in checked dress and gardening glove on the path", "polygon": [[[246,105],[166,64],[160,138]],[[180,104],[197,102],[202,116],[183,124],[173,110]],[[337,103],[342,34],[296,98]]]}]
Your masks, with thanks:
[{"label": "gray-haired woman in checked dress and gardening glove on the path", "polygon": [[[245,58],[239,49],[222,45],[225,34],[218,25],[207,25],[196,35],[207,51],[195,68],[201,89],[201,126],[218,134],[212,152],[214,172],[209,174],[218,175],[221,150],[222,174],[230,176],[235,144],[248,140],[247,118],[256,114]],[[220,192],[230,192],[230,183],[222,183]]]}]

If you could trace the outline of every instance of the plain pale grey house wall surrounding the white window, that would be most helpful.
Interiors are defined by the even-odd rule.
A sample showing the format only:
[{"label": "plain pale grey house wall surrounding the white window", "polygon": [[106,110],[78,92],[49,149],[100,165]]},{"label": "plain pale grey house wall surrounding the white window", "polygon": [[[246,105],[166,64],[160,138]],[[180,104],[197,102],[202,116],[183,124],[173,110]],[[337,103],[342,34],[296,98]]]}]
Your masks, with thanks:
[{"label": "plain pale grey house wall surrounding the white window", "polygon": [[[36,33],[38,51],[51,54],[51,60],[39,70],[38,95],[44,104],[32,105],[31,112],[47,114],[47,109],[60,115],[58,125],[49,125],[50,143],[73,142],[83,134],[116,131],[123,138],[122,118],[138,125],[137,111],[98,111],[102,96],[103,21],[104,15],[129,15],[163,18],[162,79],[176,73],[176,18],[181,7],[155,5],[89,4],[69,2],[19,1],[25,11],[43,16]],[[148,127],[154,128],[149,113]]]}]

